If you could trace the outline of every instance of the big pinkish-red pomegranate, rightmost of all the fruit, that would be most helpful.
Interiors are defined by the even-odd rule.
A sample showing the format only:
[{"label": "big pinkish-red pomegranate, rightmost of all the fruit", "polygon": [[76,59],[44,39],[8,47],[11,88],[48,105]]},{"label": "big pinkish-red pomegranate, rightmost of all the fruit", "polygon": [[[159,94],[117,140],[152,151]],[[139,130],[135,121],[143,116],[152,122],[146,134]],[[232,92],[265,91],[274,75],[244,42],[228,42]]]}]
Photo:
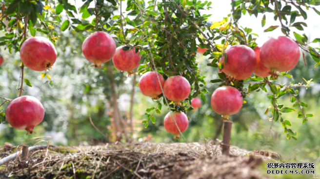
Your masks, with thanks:
[{"label": "big pinkish-red pomegranate, rightmost of all the fruit", "polygon": [[300,59],[300,49],[294,40],[279,36],[270,38],[260,49],[262,64],[271,69],[273,73],[285,72],[293,69]]}]

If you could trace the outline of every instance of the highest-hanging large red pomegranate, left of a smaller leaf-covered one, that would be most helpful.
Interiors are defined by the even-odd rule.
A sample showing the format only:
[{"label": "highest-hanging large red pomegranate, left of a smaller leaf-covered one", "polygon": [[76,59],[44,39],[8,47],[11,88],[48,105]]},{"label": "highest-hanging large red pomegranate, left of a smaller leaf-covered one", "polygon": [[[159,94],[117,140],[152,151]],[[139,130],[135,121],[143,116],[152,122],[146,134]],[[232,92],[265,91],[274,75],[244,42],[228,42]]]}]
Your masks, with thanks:
[{"label": "highest-hanging large red pomegranate, left of a smaller leaf-covered one", "polygon": [[101,67],[113,58],[116,52],[116,42],[106,32],[97,31],[88,36],[82,43],[84,57],[93,62],[95,67]]}]

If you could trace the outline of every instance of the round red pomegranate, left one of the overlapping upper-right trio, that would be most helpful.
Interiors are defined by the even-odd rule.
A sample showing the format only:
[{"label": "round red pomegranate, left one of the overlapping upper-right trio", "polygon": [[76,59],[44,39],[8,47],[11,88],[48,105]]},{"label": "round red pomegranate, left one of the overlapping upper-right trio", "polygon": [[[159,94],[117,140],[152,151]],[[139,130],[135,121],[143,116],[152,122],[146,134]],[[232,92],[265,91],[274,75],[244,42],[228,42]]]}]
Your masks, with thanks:
[{"label": "round red pomegranate, left one of the overlapping upper-right trio", "polygon": [[227,54],[227,64],[223,61],[223,69],[220,70],[225,75],[233,80],[245,80],[249,78],[257,65],[257,57],[255,52],[246,45],[235,45],[228,48],[225,53]]}]

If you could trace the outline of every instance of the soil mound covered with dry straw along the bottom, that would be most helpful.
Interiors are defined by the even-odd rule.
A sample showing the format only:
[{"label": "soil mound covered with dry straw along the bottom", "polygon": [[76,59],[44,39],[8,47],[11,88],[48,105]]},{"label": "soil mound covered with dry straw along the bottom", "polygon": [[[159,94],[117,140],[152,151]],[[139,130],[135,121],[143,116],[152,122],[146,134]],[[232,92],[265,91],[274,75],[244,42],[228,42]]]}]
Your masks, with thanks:
[{"label": "soil mound covered with dry straw along the bottom", "polygon": [[[18,148],[19,150],[19,148]],[[0,158],[17,148],[0,148]],[[265,162],[277,154],[235,146],[230,157],[207,143],[107,143],[98,146],[48,147],[0,166],[3,179],[267,179]]]}]

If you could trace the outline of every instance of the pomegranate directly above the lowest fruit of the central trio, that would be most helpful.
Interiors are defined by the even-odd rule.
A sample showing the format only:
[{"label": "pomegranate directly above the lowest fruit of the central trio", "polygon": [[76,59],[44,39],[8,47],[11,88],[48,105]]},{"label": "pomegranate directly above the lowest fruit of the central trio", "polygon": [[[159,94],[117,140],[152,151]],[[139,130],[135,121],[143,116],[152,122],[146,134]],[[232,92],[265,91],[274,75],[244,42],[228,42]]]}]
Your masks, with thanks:
[{"label": "pomegranate directly above the lowest fruit of the central trio", "polygon": [[172,100],[176,105],[180,105],[180,101],[187,99],[190,91],[189,81],[180,75],[168,78],[163,85],[165,97]]}]

